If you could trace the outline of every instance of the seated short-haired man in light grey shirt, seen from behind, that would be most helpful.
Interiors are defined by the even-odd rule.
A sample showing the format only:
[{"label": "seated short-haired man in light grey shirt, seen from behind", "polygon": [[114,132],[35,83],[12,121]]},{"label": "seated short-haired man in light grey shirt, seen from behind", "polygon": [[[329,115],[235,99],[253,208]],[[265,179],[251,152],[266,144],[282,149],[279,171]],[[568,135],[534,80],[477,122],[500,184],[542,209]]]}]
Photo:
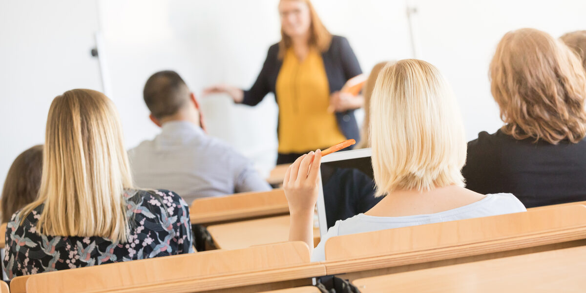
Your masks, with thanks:
[{"label": "seated short-haired man in light grey shirt, seen from behind", "polygon": [[144,100],[161,134],[128,152],[138,186],[175,190],[188,203],[271,189],[247,158],[206,134],[195,95],[175,71],[149,77]]}]

